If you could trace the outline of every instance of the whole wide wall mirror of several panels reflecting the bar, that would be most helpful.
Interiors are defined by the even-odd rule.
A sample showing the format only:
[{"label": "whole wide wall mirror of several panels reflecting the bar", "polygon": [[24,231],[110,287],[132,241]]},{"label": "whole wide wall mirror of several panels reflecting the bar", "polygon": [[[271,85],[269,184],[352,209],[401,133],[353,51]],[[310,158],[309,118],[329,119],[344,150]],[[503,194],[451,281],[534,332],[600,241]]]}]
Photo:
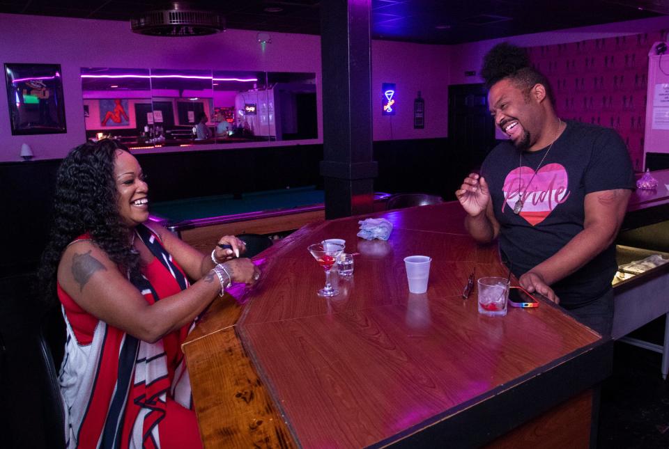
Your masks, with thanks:
[{"label": "whole wide wall mirror of several panels reflecting the bar", "polygon": [[87,139],[153,148],[318,138],[311,72],[82,68],[81,76]]}]

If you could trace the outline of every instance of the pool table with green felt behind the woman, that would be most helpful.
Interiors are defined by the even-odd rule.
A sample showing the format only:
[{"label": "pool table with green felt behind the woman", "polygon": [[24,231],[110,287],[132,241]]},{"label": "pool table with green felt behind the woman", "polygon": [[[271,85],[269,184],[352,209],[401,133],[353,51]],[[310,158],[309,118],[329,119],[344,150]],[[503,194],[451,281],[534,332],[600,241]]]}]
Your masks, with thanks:
[{"label": "pool table with green felt behind the woman", "polygon": [[[385,210],[390,194],[374,194],[374,210]],[[325,219],[325,192],[315,186],[217,195],[151,204],[151,220],[185,242],[210,251],[222,235],[275,235]]]}]

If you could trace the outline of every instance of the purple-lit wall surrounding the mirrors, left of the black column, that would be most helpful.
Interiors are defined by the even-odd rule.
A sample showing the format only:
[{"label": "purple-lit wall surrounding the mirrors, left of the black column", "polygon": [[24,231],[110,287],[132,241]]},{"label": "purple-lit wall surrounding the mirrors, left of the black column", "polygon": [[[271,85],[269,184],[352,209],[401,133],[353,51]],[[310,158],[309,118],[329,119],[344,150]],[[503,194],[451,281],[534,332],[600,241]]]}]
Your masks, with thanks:
[{"label": "purple-lit wall surrounding the mirrors, left of the black column", "polygon": [[[227,30],[197,38],[155,38],[132,33],[128,22],[0,14],[0,63],[61,64],[68,125],[67,134],[12,136],[3,86],[0,88],[0,162],[20,160],[24,142],[31,145],[36,159],[63,157],[70,148],[84,142],[79,77],[82,67],[315,72],[316,79],[321,79],[318,36],[272,33],[272,43],[263,53],[256,35],[256,31]],[[320,87],[319,84],[316,92],[318,104],[321,104]],[[322,135],[320,121],[318,134]],[[257,146],[256,143],[245,145]],[[220,147],[202,145],[198,149],[207,148]],[[161,151],[169,150],[172,149]]]}]

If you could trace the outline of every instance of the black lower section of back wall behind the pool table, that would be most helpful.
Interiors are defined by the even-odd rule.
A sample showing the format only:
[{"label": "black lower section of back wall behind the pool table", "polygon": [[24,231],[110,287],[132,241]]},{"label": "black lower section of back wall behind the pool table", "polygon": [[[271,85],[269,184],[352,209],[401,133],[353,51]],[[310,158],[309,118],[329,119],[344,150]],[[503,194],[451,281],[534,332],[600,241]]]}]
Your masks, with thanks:
[{"label": "black lower section of back wall behind the pool table", "polygon": [[[137,155],[152,200],[176,200],[285,187],[323,186],[318,163],[323,145],[291,145]],[[446,200],[468,173],[447,139],[378,141],[375,191],[426,192]],[[51,226],[60,160],[0,164],[3,220],[0,278],[33,270]]]}]

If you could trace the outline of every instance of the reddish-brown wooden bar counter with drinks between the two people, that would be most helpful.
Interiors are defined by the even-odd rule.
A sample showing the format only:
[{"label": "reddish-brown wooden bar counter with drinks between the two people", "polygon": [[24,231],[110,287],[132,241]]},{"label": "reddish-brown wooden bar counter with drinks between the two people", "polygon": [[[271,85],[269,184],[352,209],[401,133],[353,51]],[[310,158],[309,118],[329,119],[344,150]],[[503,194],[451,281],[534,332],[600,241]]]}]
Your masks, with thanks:
[{"label": "reddish-brown wooden bar counter with drinks between the two people", "polygon": [[[458,203],[370,216],[393,223],[387,242],[356,237],[366,217],[312,223],[203,316],[183,349],[205,446],[590,446],[610,339],[548,303],[479,315],[468,276],[507,269]],[[332,299],[307,252],[326,238],[360,253]],[[432,258],[426,294],[408,292],[403,258],[417,254]]]}]

